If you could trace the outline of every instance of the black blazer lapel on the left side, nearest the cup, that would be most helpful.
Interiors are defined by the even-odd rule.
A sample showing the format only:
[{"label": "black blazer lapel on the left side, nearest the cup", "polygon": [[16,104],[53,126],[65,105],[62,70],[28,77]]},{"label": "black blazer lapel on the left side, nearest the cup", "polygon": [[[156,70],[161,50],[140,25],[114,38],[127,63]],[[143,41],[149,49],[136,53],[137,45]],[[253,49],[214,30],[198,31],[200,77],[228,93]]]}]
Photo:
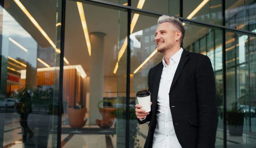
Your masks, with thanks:
[{"label": "black blazer lapel on the left side, nearest the cup", "polygon": [[154,90],[154,95],[153,95],[154,109],[156,109],[156,107],[157,107],[157,96],[158,96],[158,90],[159,90],[159,84],[160,84],[162,71],[163,71],[163,63],[160,63],[158,68],[157,68],[157,72],[156,72],[156,76],[155,76],[155,80],[154,80],[154,86],[153,86],[153,90]]}]

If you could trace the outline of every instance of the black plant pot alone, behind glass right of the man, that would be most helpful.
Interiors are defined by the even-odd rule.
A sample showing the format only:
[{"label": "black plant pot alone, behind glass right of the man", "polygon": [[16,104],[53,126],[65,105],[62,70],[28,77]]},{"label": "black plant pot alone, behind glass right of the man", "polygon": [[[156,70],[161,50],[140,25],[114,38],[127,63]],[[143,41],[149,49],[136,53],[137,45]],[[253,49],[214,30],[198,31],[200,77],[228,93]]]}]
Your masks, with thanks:
[{"label": "black plant pot alone, behind glass right of the man", "polygon": [[244,113],[227,112],[227,125],[230,136],[242,136],[244,128]]}]

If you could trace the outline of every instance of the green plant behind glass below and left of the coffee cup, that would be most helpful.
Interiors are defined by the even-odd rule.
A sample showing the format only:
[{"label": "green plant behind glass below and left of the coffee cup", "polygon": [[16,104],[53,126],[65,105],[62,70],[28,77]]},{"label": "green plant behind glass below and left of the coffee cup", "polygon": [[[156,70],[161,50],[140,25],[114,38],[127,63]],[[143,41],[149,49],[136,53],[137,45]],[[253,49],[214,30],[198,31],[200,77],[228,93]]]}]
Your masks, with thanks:
[{"label": "green plant behind glass below and left of the coffee cup", "polygon": [[[112,112],[112,114],[116,115],[117,125],[119,125],[119,126],[115,125],[116,141],[118,141],[117,147],[118,145],[120,148],[125,147],[126,126],[123,126],[123,125],[126,125],[126,108],[118,108],[114,112]],[[139,143],[140,140],[137,139],[137,135],[140,136],[140,126],[138,124],[134,108],[130,108],[129,115],[130,115],[129,117],[129,133],[130,133],[129,148],[134,148],[134,146],[136,146],[136,148],[141,148]]]}]

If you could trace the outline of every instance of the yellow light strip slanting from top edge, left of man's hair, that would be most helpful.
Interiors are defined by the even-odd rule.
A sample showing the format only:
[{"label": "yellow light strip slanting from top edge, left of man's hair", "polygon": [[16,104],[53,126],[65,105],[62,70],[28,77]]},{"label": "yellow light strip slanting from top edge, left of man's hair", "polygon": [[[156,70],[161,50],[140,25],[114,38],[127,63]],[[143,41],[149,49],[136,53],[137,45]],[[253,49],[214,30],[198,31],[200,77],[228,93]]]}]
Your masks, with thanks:
[{"label": "yellow light strip slanting from top edge, left of man's hair", "polygon": [[[142,9],[144,3],[145,3],[145,0],[139,0],[137,8]],[[140,14],[134,14],[134,16],[133,16],[133,18],[131,20],[131,31],[130,31],[131,34],[132,34],[132,32],[134,30],[134,27],[135,27],[135,25],[136,25],[136,23],[137,23],[137,21],[139,19],[139,16],[140,16]],[[127,47],[127,36],[125,37],[125,42],[122,45],[122,47],[121,47],[121,49],[120,49],[120,51],[118,53],[118,61],[116,62],[116,66],[115,66],[114,71],[113,71],[114,74],[116,74],[116,71],[118,69],[118,62],[122,58],[122,55],[125,53],[126,47]]]}]

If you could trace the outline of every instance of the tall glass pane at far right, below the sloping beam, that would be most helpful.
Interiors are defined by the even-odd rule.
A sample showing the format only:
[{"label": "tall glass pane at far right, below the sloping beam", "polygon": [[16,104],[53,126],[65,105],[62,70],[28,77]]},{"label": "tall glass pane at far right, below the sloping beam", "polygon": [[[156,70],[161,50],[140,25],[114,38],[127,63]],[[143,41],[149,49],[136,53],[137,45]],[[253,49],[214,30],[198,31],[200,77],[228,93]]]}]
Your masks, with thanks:
[{"label": "tall glass pane at far right, below the sloping beam", "polygon": [[[255,56],[251,56],[255,52],[254,38],[227,32],[227,42],[230,40],[226,44],[228,45],[226,48],[228,148],[244,145],[253,148],[256,144],[252,137],[256,133],[255,64],[253,64]],[[233,64],[230,64],[231,61]]]}]

